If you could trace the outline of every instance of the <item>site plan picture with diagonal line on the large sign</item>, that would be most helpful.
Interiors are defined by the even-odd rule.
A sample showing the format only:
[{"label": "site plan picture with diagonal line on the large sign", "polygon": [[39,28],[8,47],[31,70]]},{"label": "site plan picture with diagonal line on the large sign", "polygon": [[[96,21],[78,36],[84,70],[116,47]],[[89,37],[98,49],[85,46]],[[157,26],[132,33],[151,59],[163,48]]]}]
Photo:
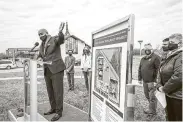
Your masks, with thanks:
[{"label": "site plan picture with diagonal line on the large sign", "polygon": [[95,90],[119,107],[121,47],[96,50]]}]

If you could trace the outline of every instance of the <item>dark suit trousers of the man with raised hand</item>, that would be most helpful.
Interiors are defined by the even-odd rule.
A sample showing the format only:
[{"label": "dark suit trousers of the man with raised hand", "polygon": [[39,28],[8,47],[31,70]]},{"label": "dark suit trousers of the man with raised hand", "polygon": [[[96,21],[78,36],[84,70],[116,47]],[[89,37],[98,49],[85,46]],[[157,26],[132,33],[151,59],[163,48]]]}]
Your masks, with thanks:
[{"label": "dark suit trousers of the man with raised hand", "polygon": [[52,74],[49,68],[45,68],[44,77],[46,81],[46,87],[51,109],[56,110],[57,114],[62,114],[64,71]]}]

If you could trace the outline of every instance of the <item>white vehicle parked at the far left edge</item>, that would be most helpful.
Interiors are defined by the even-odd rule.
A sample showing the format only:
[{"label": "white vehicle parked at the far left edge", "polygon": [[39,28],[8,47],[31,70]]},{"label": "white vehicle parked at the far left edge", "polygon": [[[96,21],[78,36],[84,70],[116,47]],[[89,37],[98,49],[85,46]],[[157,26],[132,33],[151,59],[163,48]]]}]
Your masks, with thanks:
[{"label": "white vehicle parked at the far left edge", "polygon": [[12,69],[16,64],[11,60],[0,60],[0,68]]}]

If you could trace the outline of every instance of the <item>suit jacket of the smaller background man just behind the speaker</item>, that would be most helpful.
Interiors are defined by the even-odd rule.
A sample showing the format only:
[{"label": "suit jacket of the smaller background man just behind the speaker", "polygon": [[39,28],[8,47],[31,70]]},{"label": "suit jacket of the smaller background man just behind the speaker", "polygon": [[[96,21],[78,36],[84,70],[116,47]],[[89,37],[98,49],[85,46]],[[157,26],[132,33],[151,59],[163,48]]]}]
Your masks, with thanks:
[{"label": "suit jacket of the smaller background man just behind the speaker", "polygon": [[74,73],[75,57],[67,56],[65,57],[66,69],[69,70],[68,73]]}]

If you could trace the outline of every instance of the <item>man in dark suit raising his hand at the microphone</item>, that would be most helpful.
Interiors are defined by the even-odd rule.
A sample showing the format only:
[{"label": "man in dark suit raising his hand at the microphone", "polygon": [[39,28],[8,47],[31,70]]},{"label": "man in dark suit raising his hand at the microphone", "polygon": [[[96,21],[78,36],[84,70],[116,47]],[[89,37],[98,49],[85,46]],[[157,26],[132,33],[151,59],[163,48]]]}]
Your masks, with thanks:
[{"label": "man in dark suit raising his hand at the microphone", "polygon": [[44,113],[50,115],[55,113],[51,121],[56,121],[62,117],[63,111],[63,77],[65,64],[61,57],[60,45],[64,43],[64,35],[62,30],[64,23],[60,24],[58,36],[50,36],[46,29],[40,29],[38,35],[42,41],[40,45],[39,55],[44,62],[44,78],[46,82],[49,102],[51,109]]}]

